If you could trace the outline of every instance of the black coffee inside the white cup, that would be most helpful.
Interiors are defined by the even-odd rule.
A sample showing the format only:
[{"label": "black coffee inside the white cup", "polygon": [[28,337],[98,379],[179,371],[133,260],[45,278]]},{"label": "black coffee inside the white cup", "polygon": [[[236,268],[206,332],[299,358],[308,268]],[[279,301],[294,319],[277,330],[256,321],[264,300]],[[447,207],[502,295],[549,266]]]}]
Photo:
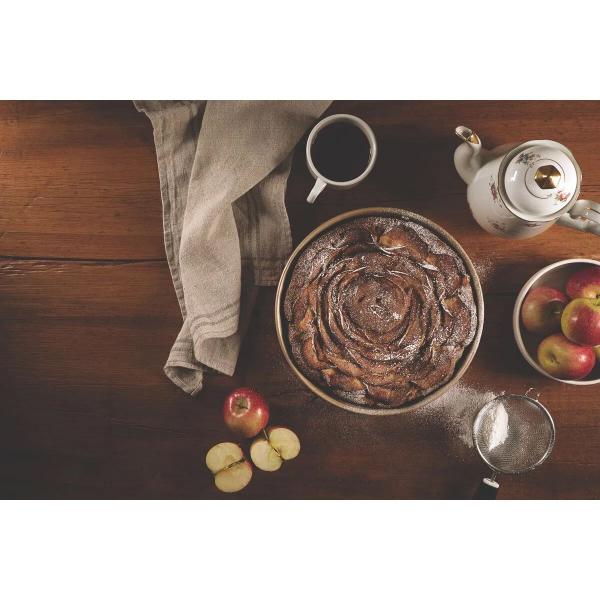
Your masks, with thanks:
[{"label": "black coffee inside the white cup", "polygon": [[317,171],[327,179],[350,181],[365,172],[371,145],[356,125],[338,121],[317,133],[311,156]]}]

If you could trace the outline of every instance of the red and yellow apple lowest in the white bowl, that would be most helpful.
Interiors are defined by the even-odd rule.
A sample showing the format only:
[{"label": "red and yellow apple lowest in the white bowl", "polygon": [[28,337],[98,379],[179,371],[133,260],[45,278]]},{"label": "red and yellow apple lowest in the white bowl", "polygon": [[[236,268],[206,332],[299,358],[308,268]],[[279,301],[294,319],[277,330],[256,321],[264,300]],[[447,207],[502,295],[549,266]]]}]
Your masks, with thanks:
[{"label": "red and yellow apple lowest in the white bowl", "polygon": [[569,341],[562,333],[554,333],[538,346],[538,362],[558,379],[582,379],[596,364],[594,350]]}]

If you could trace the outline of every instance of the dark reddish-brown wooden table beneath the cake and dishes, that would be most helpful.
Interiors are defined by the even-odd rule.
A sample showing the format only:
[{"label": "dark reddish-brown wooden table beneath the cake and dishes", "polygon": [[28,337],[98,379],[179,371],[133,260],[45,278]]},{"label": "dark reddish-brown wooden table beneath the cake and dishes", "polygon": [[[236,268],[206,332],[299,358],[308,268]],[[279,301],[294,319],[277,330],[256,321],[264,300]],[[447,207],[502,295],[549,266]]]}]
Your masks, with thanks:
[{"label": "dark reddish-brown wooden table beneath the cake and dishes", "polygon": [[302,453],[255,471],[238,498],[465,498],[486,474],[469,437],[479,406],[504,390],[541,391],[554,416],[550,460],[504,477],[502,498],[600,497],[600,398],[552,382],[512,338],[515,295],[540,267],[600,258],[597,238],[564,228],[527,241],[493,237],[469,214],[454,171],[454,127],[493,146],[557,139],[600,199],[597,102],[336,102],[367,120],[380,158],[361,186],[304,200],[297,148],[287,203],[295,241],[352,208],[398,206],[453,234],[485,292],[482,342],[451,392],[407,415],[355,415],[312,396],[277,346],[273,289],[261,289],[235,377],[209,376],[190,398],[162,367],[180,327],[163,248],[149,121],[129,102],[0,103],[0,496],[224,498],[204,466],[231,439],[221,405],[251,385]]}]

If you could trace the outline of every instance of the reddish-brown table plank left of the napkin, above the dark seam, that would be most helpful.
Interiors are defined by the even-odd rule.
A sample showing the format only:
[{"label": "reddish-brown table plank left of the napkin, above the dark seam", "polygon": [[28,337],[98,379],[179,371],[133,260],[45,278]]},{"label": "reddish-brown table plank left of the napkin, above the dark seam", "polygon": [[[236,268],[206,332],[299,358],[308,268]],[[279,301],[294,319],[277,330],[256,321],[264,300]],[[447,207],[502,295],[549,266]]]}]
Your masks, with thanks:
[{"label": "reddish-brown table plank left of the napkin, above the dark seam", "polygon": [[129,103],[0,102],[0,255],[164,258],[146,121]]}]

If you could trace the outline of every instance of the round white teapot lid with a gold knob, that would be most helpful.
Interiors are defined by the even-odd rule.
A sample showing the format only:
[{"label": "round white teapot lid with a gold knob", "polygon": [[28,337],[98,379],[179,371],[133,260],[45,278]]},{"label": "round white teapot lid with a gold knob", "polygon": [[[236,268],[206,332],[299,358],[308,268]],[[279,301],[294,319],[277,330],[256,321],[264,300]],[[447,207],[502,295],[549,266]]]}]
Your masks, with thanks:
[{"label": "round white teapot lid with a gold knob", "polygon": [[504,159],[500,177],[508,207],[528,221],[544,221],[569,210],[579,194],[581,171],[570,150],[537,140],[518,146]]}]

